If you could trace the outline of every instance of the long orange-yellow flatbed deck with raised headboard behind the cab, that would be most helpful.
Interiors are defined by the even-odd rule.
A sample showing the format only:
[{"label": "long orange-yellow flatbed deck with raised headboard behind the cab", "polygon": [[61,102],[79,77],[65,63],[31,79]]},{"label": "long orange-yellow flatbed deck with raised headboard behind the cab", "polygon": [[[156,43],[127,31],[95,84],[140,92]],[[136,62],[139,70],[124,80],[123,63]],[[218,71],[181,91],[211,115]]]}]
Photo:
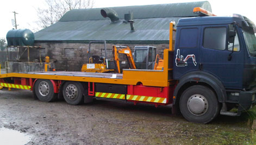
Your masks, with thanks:
[{"label": "long orange-yellow flatbed deck with raised headboard behind the cab", "polygon": [[40,71],[40,72],[23,72],[23,73],[8,73],[0,74],[0,79],[5,82],[5,78],[30,78],[30,79],[45,79],[56,81],[78,81],[78,82],[94,82],[94,83],[111,83],[136,85],[143,84],[152,87],[168,87],[173,84],[172,78],[168,75],[172,68],[168,65],[169,51],[164,50],[164,70],[138,70],[138,69],[123,69],[122,74],[111,73],[90,73],[80,71]]}]

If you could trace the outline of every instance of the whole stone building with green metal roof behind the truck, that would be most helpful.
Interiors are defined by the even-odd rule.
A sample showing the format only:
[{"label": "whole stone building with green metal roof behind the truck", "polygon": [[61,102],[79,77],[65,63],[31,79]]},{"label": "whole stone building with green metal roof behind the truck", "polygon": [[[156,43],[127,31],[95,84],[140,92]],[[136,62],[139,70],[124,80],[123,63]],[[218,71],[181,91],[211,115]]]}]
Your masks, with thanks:
[{"label": "whole stone building with green metal roof behind the truck", "polygon": [[[59,22],[36,32],[35,45],[42,47],[42,56],[56,60],[57,70],[68,71],[79,71],[83,63],[88,63],[90,41],[107,41],[108,57],[112,57],[114,44],[127,45],[131,49],[136,45],[152,45],[162,55],[163,50],[168,48],[169,23],[197,16],[193,14],[195,7],[211,11],[207,1],[74,9]],[[91,51],[93,55],[104,55],[104,44],[93,43]]]}]

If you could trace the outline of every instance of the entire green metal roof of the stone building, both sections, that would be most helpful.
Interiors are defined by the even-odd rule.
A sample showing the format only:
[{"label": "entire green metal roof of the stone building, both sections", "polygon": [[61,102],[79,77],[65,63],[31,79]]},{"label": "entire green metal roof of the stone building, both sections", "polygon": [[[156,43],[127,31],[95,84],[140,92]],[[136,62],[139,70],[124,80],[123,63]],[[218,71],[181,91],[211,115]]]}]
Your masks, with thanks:
[{"label": "entire green metal roof of the stone building, both sections", "polygon": [[[35,33],[36,41],[168,41],[169,23],[183,17],[195,16],[193,8],[200,6],[211,11],[210,3],[174,3],[122,6],[114,9],[121,21],[111,23],[101,16],[101,8],[67,12],[59,22]],[[124,23],[124,14],[133,12],[135,31]]]}]

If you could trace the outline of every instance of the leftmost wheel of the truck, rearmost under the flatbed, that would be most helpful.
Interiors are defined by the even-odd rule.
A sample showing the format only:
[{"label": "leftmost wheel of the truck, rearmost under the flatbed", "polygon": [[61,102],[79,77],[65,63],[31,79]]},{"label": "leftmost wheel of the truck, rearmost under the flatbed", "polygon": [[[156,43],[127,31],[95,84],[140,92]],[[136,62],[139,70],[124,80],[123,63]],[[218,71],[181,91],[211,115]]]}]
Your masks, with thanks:
[{"label": "leftmost wheel of the truck, rearmost under the flatbed", "polygon": [[51,102],[57,98],[57,95],[54,94],[53,84],[50,80],[36,81],[35,94],[42,102]]}]

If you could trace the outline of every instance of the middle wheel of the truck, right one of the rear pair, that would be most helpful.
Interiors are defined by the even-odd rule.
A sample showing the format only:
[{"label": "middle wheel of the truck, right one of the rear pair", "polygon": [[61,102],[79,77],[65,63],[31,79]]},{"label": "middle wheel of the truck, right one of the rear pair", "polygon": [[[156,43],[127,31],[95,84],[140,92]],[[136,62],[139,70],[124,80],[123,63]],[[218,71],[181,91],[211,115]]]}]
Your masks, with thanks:
[{"label": "middle wheel of the truck, right one of the rear pair", "polygon": [[83,100],[82,84],[79,82],[66,82],[63,86],[63,96],[68,104],[80,104]]}]

